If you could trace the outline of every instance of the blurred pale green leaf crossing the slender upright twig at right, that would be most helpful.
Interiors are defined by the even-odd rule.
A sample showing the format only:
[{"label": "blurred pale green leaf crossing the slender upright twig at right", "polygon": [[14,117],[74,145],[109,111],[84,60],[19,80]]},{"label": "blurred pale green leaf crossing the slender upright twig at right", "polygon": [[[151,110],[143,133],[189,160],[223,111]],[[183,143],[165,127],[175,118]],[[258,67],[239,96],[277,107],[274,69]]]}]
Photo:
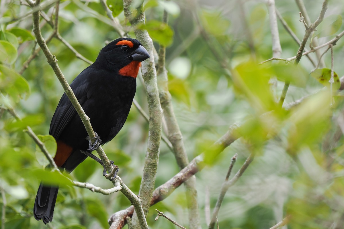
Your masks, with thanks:
[{"label": "blurred pale green leaf crossing the slender upright twig at right", "polygon": [[271,64],[270,66],[272,73],[274,73],[278,80],[283,82],[288,81],[298,87],[306,86],[309,74],[300,65],[287,65],[279,62],[278,64]]}]

